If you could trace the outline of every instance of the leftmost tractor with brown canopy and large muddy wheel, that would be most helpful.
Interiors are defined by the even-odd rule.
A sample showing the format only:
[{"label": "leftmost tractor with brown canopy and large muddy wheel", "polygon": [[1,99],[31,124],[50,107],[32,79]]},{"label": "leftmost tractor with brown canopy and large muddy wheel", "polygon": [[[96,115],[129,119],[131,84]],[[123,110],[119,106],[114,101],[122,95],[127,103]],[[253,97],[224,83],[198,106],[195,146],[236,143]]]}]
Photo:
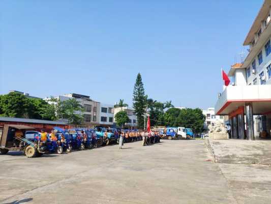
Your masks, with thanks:
[{"label": "leftmost tractor with brown canopy and large muddy wheel", "polygon": [[25,138],[27,130],[35,130],[34,127],[26,125],[8,125],[3,127],[0,135],[0,152],[7,154],[8,151],[23,151],[28,158],[39,157],[45,152],[45,143],[33,142]]}]

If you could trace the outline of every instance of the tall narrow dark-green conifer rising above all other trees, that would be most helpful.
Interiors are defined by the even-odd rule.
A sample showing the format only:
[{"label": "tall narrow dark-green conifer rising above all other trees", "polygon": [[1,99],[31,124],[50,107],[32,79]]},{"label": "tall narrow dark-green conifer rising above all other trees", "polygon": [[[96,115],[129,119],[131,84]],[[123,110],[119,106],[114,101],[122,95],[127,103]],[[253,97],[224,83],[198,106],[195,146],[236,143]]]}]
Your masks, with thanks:
[{"label": "tall narrow dark-green conifer rising above all other trees", "polygon": [[144,116],[146,108],[146,96],[143,87],[141,74],[137,74],[134,91],[133,91],[133,108],[137,117],[137,125],[139,129],[144,129]]}]

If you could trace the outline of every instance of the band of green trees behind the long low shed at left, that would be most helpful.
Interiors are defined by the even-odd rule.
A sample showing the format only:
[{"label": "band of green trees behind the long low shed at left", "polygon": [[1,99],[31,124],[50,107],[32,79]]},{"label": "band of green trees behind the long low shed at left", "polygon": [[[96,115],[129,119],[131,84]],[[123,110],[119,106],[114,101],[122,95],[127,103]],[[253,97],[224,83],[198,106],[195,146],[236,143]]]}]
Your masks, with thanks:
[{"label": "band of green trees behind the long low shed at left", "polygon": [[70,123],[81,123],[83,108],[75,98],[59,101],[51,98],[49,103],[41,98],[28,98],[21,93],[0,95],[0,116],[57,120],[68,119]]}]

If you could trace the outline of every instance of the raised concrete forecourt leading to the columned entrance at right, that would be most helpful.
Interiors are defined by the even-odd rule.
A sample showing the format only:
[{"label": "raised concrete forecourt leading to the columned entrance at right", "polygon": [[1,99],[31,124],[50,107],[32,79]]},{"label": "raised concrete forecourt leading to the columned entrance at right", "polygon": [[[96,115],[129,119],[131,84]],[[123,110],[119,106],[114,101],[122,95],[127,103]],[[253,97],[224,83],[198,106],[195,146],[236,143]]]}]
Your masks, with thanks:
[{"label": "raised concrete forecourt leading to the columned entrance at right", "polygon": [[271,203],[270,140],[206,140],[238,203]]}]

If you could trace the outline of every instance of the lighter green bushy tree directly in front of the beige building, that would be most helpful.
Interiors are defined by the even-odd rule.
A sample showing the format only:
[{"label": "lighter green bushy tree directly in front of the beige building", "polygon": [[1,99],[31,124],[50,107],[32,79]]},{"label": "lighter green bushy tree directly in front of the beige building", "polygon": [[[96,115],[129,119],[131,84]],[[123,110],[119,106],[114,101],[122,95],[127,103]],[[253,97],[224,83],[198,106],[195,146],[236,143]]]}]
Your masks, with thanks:
[{"label": "lighter green bushy tree directly in front of the beige building", "polygon": [[64,100],[59,102],[58,115],[61,118],[68,119],[70,124],[81,124],[83,116],[81,112],[84,108],[75,98],[70,98],[69,100]]}]

